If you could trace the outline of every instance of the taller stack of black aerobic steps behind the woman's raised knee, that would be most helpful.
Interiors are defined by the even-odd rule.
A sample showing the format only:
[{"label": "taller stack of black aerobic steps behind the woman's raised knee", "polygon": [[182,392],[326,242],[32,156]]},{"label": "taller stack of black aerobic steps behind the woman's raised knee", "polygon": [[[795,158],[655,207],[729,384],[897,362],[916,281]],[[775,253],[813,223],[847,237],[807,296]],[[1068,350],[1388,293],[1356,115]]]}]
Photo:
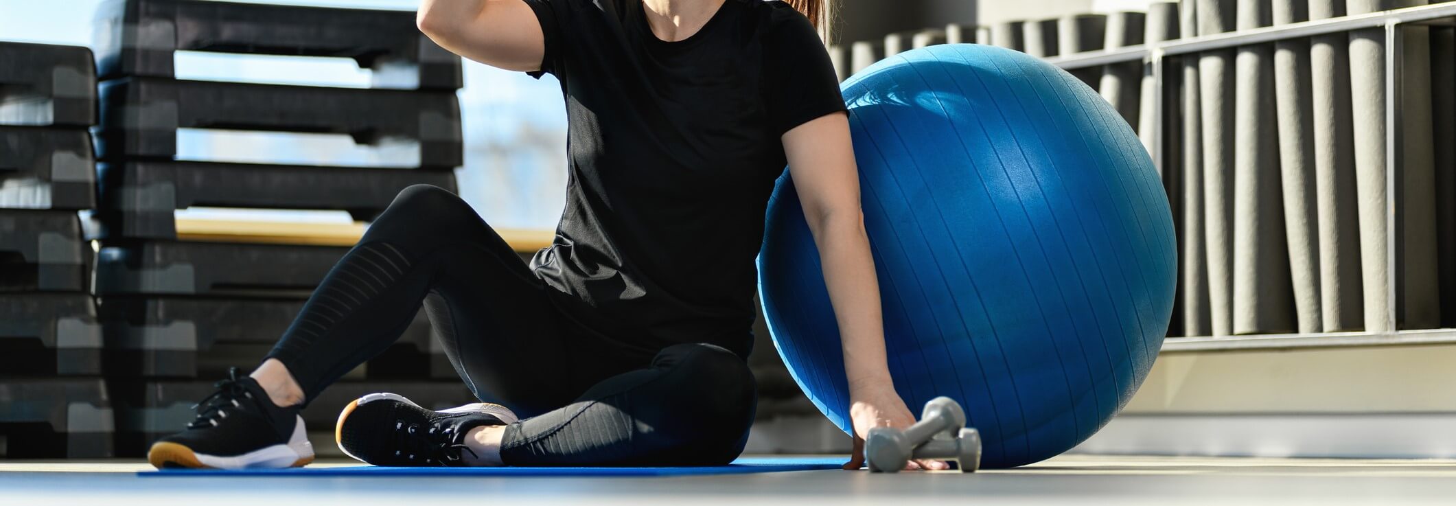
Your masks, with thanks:
[{"label": "taller stack of black aerobic steps behind the woman's raised knee", "polygon": [[[182,429],[191,405],[227,367],[256,366],[357,239],[198,232],[176,211],[342,210],[368,222],[412,184],[454,191],[462,69],[459,57],[415,29],[411,12],[114,0],[98,10],[95,32],[103,82],[93,289],[118,410],[116,451],[138,455]],[[183,80],[173,69],[176,51],[345,57],[368,69],[373,85]],[[342,134],[370,147],[414,144],[418,159],[403,166],[220,162],[207,153],[179,156],[186,128]],[[393,388],[422,404],[470,401],[444,354],[431,353],[438,351],[432,343],[421,316],[399,346],[331,394]],[[312,400],[310,429],[332,430],[342,404]]]}]

